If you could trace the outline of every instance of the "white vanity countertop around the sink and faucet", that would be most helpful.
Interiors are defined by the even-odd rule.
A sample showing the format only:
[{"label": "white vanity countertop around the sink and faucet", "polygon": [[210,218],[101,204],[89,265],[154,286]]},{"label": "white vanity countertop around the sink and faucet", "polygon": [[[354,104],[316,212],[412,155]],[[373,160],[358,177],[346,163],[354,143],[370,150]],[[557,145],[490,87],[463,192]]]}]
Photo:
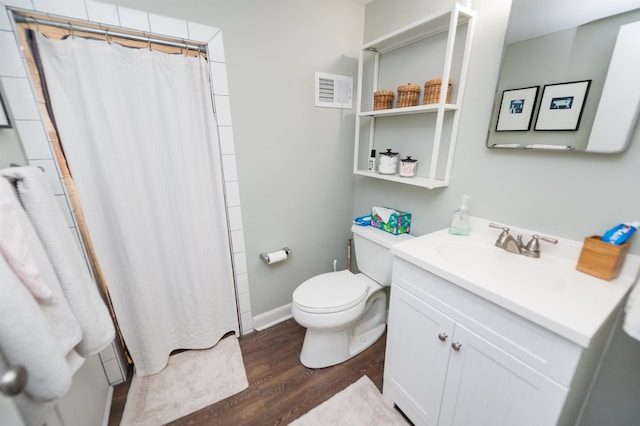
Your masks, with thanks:
[{"label": "white vanity countertop around the sink and faucet", "polygon": [[[557,238],[505,226],[511,228],[514,238],[522,234],[525,243],[532,234]],[[583,347],[589,346],[591,338],[623,302],[640,270],[640,257],[627,255],[618,278],[606,281],[576,270],[582,241],[557,238],[556,245],[541,241],[541,257],[532,259],[495,247],[500,232],[490,228],[489,221],[472,217],[469,236],[451,235],[445,229],[398,243],[391,248],[391,253]],[[495,250],[495,253],[486,252],[490,253],[492,262],[509,267],[514,264],[523,268],[539,267],[553,274],[561,285],[518,285],[517,282],[506,285],[504,280],[496,281],[486,271],[480,271],[477,268],[480,265],[469,262],[467,267],[447,260],[439,252],[439,248],[447,244],[490,248]]]}]

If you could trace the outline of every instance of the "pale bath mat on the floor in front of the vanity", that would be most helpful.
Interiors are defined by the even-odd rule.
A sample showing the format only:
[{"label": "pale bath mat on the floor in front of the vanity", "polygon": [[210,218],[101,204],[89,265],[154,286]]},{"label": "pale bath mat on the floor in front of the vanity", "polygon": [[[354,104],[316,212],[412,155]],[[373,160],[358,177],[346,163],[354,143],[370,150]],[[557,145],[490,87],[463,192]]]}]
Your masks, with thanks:
[{"label": "pale bath mat on the floor in front of the vanity", "polygon": [[362,376],[357,382],[291,423],[292,426],[408,424],[402,415],[382,398],[376,385],[367,376]]}]

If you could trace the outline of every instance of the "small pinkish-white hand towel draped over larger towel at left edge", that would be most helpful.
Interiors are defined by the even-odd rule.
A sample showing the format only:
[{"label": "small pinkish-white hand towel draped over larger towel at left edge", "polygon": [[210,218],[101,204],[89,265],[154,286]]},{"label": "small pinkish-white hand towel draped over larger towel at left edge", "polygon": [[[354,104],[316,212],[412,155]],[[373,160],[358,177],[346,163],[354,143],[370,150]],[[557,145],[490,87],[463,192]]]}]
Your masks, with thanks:
[{"label": "small pinkish-white hand towel draped over larger towel at left edge", "polygon": [[5,181],[0,185],[0,254],[34,297],[51,301],[53,293],[40,275],[19,224],[19,210],[15,188]]}]

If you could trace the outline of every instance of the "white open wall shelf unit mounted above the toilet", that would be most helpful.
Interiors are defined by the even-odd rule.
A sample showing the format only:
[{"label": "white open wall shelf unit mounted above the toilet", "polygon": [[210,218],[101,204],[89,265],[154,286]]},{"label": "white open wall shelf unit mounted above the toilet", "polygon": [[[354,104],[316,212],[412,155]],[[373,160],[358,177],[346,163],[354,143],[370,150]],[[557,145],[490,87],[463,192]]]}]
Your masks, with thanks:
[{"label": "white open wall shelf unit mounted above the toilet", "polygon": [[[475,12],[455,4],[371,41],[360,51],[353,172],[425,188],[447,186],[473,37]],[[451,98],[424,104],[424,83],[441,78],[441,93],[452,81]],[[397,88],[420,86],[418,105],[396,108]],[[394,107],[373,109],[373,93],[396,92]],[[399,152],[418,160],[415,177],[381,174],[368,168],[371,150]]]}]

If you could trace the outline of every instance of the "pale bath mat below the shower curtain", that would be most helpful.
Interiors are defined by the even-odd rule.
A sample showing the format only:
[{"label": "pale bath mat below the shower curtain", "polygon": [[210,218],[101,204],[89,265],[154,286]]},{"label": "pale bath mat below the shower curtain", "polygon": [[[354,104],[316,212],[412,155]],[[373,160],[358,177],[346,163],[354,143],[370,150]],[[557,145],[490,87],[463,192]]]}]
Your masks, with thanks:
[{"label": "pale bath mat below the shower curtain", "polygon": [[157,426],[221,401],[249,386],[238,338],[172,355],[153,376],[131,381],[121,426]]}]

